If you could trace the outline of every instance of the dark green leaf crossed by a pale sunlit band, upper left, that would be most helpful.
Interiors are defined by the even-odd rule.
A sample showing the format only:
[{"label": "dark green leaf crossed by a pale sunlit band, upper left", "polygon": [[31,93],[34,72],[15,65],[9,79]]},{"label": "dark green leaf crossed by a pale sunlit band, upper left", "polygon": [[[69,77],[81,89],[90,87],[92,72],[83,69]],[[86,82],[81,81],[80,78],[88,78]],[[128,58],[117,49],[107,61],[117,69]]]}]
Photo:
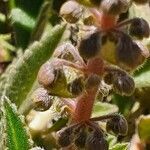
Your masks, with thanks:
[{"label": "dark green leaf crossed by a pale sunlit band, upper left", "polygon": [[13,6],[11,22],[15,32],[16,44],[19,48],[25,49],[29,44],[31,32],[35,27],[37,16],[44,0],[11,1],[12,4],[10,5]]}]

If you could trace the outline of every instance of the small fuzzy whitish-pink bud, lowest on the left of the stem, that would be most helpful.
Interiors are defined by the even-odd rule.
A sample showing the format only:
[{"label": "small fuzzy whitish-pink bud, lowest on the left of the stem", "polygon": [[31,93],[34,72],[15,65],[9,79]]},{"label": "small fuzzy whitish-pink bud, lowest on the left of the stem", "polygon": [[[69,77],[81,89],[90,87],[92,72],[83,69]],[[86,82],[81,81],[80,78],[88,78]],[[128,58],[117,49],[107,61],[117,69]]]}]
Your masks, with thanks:
[{"label": "small fuzzy whitish-pink bud, lowest on the left of the stem", "polygon": [[44,88],[38,88],[32,95],[34,109],[37,111],[46,111],[52,105],[52,99]]}]

